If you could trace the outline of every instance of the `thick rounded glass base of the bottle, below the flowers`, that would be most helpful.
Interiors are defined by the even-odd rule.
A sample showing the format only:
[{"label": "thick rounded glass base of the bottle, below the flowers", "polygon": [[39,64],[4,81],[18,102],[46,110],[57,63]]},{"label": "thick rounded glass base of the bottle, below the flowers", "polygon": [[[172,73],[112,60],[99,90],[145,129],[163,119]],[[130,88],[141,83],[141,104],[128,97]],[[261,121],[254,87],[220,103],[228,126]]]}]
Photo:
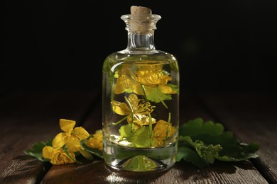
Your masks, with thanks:
[{"label": "thick rounded glass base of the bottle, below the flowers", "polygon": [[167,170],[175,163],[177,144],[162,148],[134,149],[104,140],[104,161],[116,170],[149,172]]}]

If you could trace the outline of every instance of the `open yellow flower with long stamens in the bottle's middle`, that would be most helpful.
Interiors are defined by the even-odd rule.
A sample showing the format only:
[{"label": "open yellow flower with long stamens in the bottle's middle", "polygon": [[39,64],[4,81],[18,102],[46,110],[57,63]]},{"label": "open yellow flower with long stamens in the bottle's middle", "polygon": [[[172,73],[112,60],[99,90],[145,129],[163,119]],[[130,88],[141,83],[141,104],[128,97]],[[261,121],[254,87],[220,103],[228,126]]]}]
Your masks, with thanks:
[{"label": "open yellow flower with long stamens in the bottle's middle", "polygon": [[112,109],[118,115],[127,115],[127,122],[130,124],[134,122],[139,127],[156,123],[155,118],[149,118],[148,115],[153,112],[154,106],[150,103],[138,99],[138,97],[131,93],[128,98],[125,97],[126,103],[121,103],[116,100],[112,101]]}]

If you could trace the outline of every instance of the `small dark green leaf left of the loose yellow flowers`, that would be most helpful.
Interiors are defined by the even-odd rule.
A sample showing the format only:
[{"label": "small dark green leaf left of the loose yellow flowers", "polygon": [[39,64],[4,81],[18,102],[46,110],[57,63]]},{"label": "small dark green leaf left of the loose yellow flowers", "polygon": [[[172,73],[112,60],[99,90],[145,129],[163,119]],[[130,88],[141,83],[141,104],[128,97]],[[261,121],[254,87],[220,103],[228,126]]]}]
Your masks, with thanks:
[{"label": "small dark green leaf left of the loose yellow flowers", "polygon": [[31,149],[24,150],[24,153],[29,156],[34,156],[40,161],[49,161],[49,159],[43,158],[43,148],[45,146],[52,146],[52,139],[48,140],[47,142],[36,142],[31,146]]}]

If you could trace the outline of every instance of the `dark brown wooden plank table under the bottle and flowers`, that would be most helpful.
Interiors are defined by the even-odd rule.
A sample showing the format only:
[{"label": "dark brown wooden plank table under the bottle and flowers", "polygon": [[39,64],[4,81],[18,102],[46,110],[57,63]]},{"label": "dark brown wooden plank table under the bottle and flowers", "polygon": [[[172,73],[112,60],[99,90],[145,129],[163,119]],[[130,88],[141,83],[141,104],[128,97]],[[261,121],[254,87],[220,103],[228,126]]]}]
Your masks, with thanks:
[{"label": "dark brown wooden plank table under the bottle and flowers", "polygon": [[0,183],[277,183],[277,97],[270,93],[180,94],[180,123],[221,122],[242,142],[258,142],[258,159],[197,168],[180,161],[169,171],[112,171],[96,159],[52,166],[23,150],[55,137],[59,119],[89,133],[102,127],[101,91],[0,91]]}]

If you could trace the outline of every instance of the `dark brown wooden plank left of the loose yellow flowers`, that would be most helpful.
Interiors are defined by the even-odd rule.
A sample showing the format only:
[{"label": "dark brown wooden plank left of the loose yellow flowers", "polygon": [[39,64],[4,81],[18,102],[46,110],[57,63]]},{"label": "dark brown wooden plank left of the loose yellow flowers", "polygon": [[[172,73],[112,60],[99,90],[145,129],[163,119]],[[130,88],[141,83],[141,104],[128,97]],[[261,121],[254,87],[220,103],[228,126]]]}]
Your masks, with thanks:
[{"label": "dark brown wooden plank left of the loose yellow flowers", "polygon": [[39,183],[50,168],[23,150],[60,132],[59,119],[81,122],[94,91],[14,91],[0,98],[0,183]]}]

